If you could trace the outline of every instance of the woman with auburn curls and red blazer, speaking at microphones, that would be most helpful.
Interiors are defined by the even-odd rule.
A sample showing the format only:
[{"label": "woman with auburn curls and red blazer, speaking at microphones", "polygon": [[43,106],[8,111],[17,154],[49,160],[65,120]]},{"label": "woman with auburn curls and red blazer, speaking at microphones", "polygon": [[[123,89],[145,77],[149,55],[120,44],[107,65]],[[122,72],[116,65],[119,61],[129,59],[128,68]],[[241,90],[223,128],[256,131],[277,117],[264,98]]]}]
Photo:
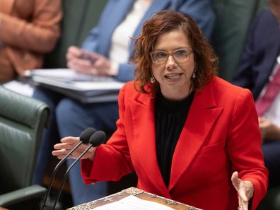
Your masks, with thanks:
[{"label": "woman with auburn curls and red blazer, speaking at microphones", "polygon": [[[136,38],[133,62],[135,81],[119,92],[117,131],[84,156],[84,181],[135,170],[137,187],[153,194],[206,210],[256,209],[268,172],[254,100],[216,76],[217,58],[197,23],[156,13]],[[63,158],[78,141],[62,139],[53,155]]]}]

